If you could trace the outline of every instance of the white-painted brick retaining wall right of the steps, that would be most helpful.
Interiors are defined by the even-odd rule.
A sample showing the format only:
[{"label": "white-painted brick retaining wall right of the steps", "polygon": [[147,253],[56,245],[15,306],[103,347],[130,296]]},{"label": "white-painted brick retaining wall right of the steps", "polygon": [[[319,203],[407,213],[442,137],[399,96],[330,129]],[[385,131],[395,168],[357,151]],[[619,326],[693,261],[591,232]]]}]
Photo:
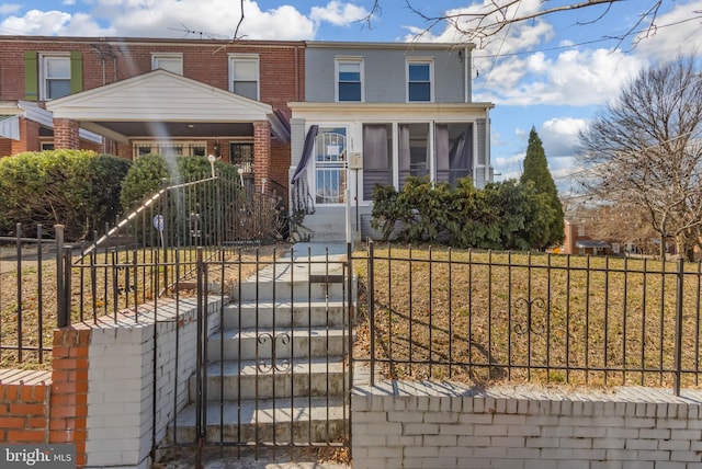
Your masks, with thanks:
[{"label": "white-painted brick retaining wall right of the steps", "polygon": [[353,468],[700,468],[701,403],[700,390],[361,384]]}]

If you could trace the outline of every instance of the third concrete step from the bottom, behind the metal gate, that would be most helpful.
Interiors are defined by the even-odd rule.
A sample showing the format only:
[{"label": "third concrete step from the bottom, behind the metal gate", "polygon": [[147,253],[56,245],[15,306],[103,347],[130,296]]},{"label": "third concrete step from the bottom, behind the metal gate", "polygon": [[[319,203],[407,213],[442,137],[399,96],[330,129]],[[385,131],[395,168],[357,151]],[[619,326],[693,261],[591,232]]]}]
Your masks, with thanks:
[{"label": "third concrete step from the bottom, behind the metal gate", "polygon": [[[326,327],[296,329],[225,329],[207,340],[212,362],[342,356],[348,350],[349,331]],[[273,340],[275,339],[275,340]]]}]

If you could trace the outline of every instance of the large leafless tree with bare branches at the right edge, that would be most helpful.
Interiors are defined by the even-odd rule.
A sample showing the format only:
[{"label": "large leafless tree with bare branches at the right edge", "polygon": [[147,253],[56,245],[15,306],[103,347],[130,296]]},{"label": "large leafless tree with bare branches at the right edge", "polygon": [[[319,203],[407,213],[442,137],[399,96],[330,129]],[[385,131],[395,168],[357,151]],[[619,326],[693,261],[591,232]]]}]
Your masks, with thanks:
[{"label": "large leafless tree with bare branches at the right edge", "polygon": [[661,240],[676,239],[680,253],[699,242],[702,78],[697,57],[642,71],[580,140],[580,162],[591,169],[584,185],[592,194],[641,207]]}]

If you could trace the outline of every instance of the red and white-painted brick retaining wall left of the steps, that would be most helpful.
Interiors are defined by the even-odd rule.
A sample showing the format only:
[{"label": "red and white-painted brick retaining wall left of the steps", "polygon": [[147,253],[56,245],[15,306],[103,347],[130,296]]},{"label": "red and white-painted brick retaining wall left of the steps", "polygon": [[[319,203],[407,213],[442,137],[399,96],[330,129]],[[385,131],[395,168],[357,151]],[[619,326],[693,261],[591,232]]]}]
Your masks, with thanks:
[{"label": "red and white-painted brick retaining wall left of the steps", "polygon": [[[212,331],[222,300],[207,304]],[[196,325],[186,298],[54,331],[52,371],[0,369],[0,444],[72,444],[79,468],[149,468],[154,439],[189,400]]]}]

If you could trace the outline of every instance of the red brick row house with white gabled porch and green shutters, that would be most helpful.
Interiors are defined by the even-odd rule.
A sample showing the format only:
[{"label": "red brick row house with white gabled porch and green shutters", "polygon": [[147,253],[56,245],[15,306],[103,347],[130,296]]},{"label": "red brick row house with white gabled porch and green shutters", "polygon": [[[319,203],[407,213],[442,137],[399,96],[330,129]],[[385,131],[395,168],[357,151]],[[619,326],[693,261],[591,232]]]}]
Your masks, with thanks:
[{"label": "red brick row house with white gabled porch and green shutters", "polygon": [[0,155],[215,155],[285,187],[304,46],[0,36]]}]

